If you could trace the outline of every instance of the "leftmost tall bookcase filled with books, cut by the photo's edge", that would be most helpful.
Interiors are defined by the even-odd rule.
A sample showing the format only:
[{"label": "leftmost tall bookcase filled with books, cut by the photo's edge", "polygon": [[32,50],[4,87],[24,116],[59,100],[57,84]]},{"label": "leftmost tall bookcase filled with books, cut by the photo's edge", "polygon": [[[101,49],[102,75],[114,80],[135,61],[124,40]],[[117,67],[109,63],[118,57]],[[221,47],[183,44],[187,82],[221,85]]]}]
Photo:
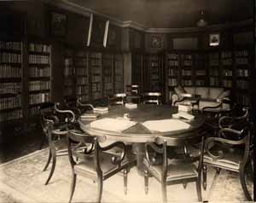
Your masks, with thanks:
[{"label": "leftmost tall bookcase filled with books, cut by the photo's edge", "polygon": [[23,118],[22,42],[0,41],[0,125]]}]

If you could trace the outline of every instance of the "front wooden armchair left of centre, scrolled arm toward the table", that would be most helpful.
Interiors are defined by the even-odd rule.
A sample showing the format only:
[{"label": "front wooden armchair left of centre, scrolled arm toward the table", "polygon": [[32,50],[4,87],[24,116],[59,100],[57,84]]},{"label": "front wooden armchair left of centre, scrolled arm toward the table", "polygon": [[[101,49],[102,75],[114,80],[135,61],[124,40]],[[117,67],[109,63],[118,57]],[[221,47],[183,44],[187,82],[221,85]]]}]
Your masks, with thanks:
[{"label": "front wooden armchair left of centre, scrolled arm toward the table", "polygon": [[[105,136],[96,137],[85,135],[81,131],[68,131],[67,148],[72,167],[71,193],[68,202],[71,202],[73,198],[77,175],[88,177],[98,184],[96,202],[100,202],[102,200],[103,181],[113,177],[119,171],[123,171],[126,194],[127,173],[135,162],[127,158],[126,147],[123,142],[113,142],[108,146],[102,147],[99,142],[104,142],[105,139]],[[79,142],[80,144],[79,146],[73,146],[73,142]],[[81,150],[82,146],[85,146],[84,150]],[[108,150],[116,147],[122,149],[119,154],[108,153]],[[74,157],[78,158],[78,161],[75,161]]]}]

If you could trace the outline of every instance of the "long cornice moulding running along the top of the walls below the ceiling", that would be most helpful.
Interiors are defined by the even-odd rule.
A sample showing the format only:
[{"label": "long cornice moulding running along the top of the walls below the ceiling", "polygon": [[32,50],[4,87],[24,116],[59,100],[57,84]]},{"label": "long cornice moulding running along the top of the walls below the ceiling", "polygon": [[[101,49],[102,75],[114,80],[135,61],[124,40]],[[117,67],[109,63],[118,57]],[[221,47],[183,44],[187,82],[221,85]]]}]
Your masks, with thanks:
[{"label": "long cornice moulding running along the top of the walls below the ceiling", "polygon": [[253,26],[253,19],[249,20],[241,20],[238,22],[231,22],[226,24],[216,24],[212,26],[206,26],[204,28],[201,27],[184,27],[184,28],[154,28],[154,27],[146,27],[141,23],[138,23],[137,21],[133,20],[127,20],[122,21],[118,20],[116,18],[113,18],[112,16],[109,16],[107,14],[102,14],[99,12],[96,12],[93,9],[84,8],[76,3],[71,3],[68,0],[59,0],[59,1],[52,1],[52,0],[43,0],[45,3],[49,3],[51,5],[54,5],[61,9],[66,9],[68,11],[71,11],[75,14],[81,14],[86,17],[90,17],[90,14],[96,14],[99,16],[102,16],[103,18],[106,18],[109,20],[110,24],[113,24],[115,26],[120,27],[129,27],[134,28],[139,31],[148,32],[148,33],[177,33],[177,32],[201,32],[201,31],[211,31],[211,30],[220,30],[220,29],[226,29],[230,27],[238,27],[238,26]]}]

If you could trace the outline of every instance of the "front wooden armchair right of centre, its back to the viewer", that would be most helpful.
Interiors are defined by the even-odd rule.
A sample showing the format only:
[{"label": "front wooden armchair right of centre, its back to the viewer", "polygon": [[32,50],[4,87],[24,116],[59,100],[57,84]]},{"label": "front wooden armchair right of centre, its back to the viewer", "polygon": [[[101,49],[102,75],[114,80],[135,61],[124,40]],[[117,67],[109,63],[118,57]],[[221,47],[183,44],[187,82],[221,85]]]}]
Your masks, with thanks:
[{"label": "front wooden armchair right of centre, its back to the viewer", "polygon": [[[195,132],[192,132],[192,134]],[[191,135],[192,135],[191,134]],[[200,158],[189,155],[188,146],[191,144],[201,142]],[[204,136],[188,136],[186,139],[178,139],[173,137],[158,137],[155,143],[146,144],[146,158],[143,162],[146,170],[144,174],[145,179],[145,193],[148,194],[148,174],[155,177],[161,183],[163,202],[167,201],[166,186],[171,184],[183,183],[183,187],[189,182],[196,183],[197,197],[201,201],[201,168],[202,168],[202,154],[204,146]],[[184,154],[170,156],[170,148],[173,151],[174,147],[184,148]],[[178,159],[173,159],[177,158]],[[169,159],[172,158],[172,159]],[[196,168],[194,162],[199,160],[199,165]]]}]

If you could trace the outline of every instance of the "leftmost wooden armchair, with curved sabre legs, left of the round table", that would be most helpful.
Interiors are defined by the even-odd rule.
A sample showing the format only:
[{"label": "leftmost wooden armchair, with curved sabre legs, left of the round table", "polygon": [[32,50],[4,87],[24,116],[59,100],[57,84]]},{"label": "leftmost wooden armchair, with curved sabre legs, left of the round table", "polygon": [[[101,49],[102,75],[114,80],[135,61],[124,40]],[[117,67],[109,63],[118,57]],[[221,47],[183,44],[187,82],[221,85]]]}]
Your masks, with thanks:
[{"label": "leftmost wooden armchair, with curved sabre legs, left of the round table", "polygon": [[[67,144],[66,142],[62,143],[62,145],[60,144],[60,142],[63,141],[61,137],[67,135],[68,122],[75,121],[75,114],[72,111],[61,110],[57,106],[59,106],[59,103],[49,103],[40,108],[41,125],[44,131],[44,136],[47,137],[49,143],[49,157],[43,171],[47,170],[50,160],[52,159],[49,177],[44,183],[45,185],[49,183],[49,180],[55,171],[56,157],[67,155]],[[55,112],[45,113],[44,107],[50,107]]]}]

